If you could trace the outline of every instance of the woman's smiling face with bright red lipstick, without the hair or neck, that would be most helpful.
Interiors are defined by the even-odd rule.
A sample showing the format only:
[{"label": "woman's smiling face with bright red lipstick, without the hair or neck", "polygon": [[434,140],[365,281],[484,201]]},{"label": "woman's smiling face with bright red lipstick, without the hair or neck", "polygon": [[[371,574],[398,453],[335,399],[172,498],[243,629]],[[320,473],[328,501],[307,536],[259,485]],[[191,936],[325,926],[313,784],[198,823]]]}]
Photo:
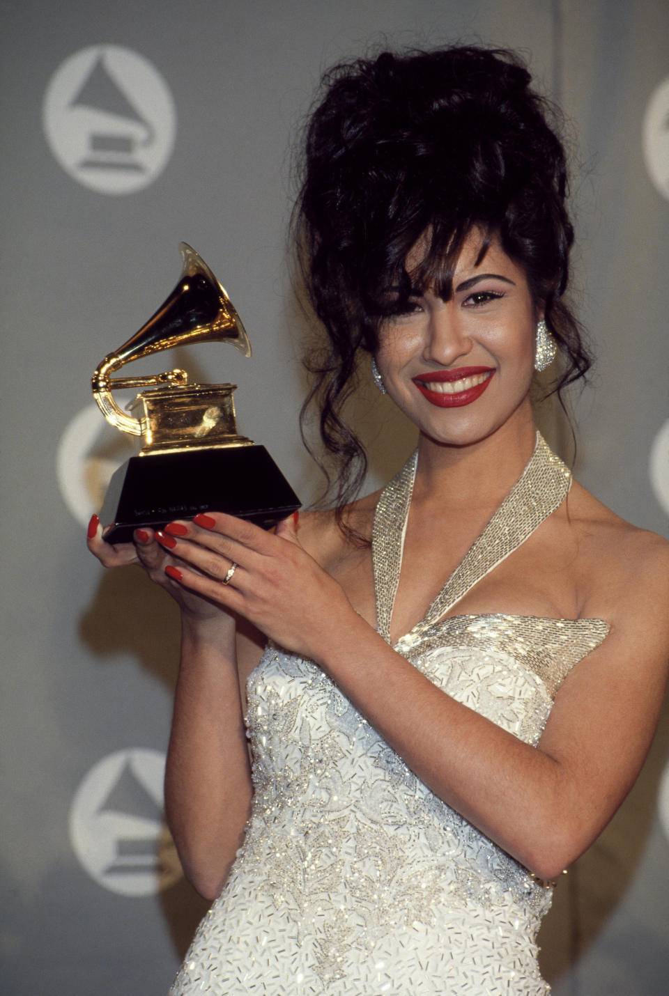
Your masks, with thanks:
[{"label": "woman's smiling face with bright red lipstick, without the hair or neck", "polygon": [[[453,295],[432,291],[387,319],[377,366],[393,400],[438,442],[465,445],[490,435],[528,405],[536,313],[524,272],[493,241],[477,265],[482,237],[468,237]],[[407,270],[420,260],[420,245]]]}]

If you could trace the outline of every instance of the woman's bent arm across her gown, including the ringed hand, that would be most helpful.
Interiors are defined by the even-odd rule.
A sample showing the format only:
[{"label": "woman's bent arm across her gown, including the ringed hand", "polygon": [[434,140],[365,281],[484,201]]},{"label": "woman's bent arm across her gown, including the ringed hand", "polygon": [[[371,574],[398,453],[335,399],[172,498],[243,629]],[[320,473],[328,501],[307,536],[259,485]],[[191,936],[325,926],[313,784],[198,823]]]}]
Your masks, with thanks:
[{"label": "woman's bent arm across her gown, including the ringed hand", "polygon": [[[666,681],[669,557],[656,539],[607,596],[611,632],[565,680],[538,749],[457,702],[396,653],[302,551],[215,516],[177,549],[182,584],[315,660],[440,798],[542,878],[585,850],[631,787]],[[208,532],[208,535],[205,535]],[[230,559],[239,563],[223,588]],[[186,563],[203,574],[193,574]],[[632,576],[633,564],[642,565]]]}]

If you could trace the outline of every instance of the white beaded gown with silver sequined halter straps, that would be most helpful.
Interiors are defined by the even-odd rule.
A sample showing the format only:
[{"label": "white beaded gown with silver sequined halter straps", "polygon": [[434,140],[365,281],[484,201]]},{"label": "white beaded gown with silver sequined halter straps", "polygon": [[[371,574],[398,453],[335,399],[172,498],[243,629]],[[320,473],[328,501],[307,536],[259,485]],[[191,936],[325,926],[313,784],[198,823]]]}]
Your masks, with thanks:
[{"label": "white beaded gown with silver sequined halter straps", "polygon": [[[415,458],[377,506],[389,639]],[[541,437],[425,619],[396,649],[454,698],[536,744],[599,620],[449,616],[564,499]],[[551,898],[413,774],[311,661],[270,645],[248,679],[252,814],[171,996],[544,996],[535,935]]]}]

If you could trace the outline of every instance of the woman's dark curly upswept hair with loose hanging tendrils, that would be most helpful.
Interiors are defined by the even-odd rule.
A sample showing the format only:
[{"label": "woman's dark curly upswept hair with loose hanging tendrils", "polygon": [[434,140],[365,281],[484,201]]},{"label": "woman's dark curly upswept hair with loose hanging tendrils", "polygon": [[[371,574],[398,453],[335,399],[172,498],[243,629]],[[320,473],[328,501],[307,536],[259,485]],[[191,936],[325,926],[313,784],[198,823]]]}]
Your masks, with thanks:
[{"label": "woman's dark curly upswept hair with loose hanging tendrils", "polygon": [[[582,377],[590,360],[563,298],[573,229],[559,114],[530,89],[520,59],[480,47],[384,52],[334,67],[322,88],[306,128],[293,225],[309,301],[328,337],[305,359],[315,379],[302,430],[317,402],[321,439],[337,464],[341,524],[367,466],[342,414],[360,353],[376,352],[391,287],[395,306],[427,287],[449,299],[473,227],[484,234],[482,255],[500,240],[544,311],[561,354],[552,391]],[[425,252],[410,276],[405,261],[419,239]]]}]

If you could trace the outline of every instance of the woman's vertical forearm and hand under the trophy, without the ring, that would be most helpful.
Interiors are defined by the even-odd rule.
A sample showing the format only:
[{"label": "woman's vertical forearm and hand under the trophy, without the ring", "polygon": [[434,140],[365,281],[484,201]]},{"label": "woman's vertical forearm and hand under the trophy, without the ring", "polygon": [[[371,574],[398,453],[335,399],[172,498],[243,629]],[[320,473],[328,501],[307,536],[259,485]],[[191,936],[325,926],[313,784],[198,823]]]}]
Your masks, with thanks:
[{"label": "woman's vertical forearm and hand under the trophy, without the ring", "polygon": [[[167,537],[167,540],[169,538]],[[97,517],[88,535],[105,567],[141,564],[181,612],[181,654],[167,752],[166,815],[188,880],[214,898],[239,848],[252,796],[240,677],[260,656],[260,634],[220,605],[170,581],[175,563],[151,530],[111,546]],[[238,623],[238,624],[237,624]]]}]

